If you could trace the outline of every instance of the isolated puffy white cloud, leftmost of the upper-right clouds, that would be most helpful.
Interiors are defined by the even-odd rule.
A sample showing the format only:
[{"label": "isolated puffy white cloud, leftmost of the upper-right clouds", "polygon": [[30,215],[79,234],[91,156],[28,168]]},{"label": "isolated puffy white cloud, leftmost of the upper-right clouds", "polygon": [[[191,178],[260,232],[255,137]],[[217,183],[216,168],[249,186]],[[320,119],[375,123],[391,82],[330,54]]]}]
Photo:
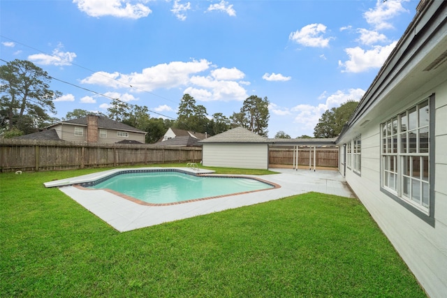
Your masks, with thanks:
[{"label": "isolated puffy white cloud, leftmost of the upper-right clouds", "polygon": [[326,27],[323,24],[309,24],[300,30],[290,33],[289,40],[295,41],[300,45],[307,47],[328,47],[329,40],[332,38],[324,38]]}]

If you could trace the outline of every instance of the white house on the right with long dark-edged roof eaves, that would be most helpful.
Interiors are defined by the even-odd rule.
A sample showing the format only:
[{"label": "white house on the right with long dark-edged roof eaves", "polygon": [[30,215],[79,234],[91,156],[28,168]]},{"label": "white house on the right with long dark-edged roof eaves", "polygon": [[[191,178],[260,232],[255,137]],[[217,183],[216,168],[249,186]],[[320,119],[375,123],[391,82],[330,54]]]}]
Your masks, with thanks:
[{"label": "white house on the right with long dark-edged roof eaves", "polygon": [[339,170],[427,294],[447,295],[447,1],[416,16],[337,138]]}]

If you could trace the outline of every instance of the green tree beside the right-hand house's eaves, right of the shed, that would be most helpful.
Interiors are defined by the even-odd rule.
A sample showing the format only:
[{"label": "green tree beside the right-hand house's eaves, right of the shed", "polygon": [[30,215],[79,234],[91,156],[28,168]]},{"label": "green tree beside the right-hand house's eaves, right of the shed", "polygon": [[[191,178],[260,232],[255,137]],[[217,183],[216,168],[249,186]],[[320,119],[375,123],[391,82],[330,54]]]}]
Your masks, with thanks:
[{"label": "green tree beside the right-hand house's eaves, right of the shed", "polygon": [[314,136],[337,137],[357,106],[358,102],[349,100],[339,107],[332,107],[332,109],[326,110],[314,128]]}]

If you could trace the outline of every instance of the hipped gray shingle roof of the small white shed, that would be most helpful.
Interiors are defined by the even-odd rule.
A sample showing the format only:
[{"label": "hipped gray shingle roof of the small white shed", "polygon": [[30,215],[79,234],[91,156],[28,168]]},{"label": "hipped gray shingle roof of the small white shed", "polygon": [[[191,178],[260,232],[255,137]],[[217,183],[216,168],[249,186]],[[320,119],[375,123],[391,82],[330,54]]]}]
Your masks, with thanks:
[{"label": "hipped gray shingle roof of the small white shed", "polygon": [[269,143],[271,142],[267,137],[253,133],[246,128],[236,127],[229,131],[224,131],[218,135],[208,137],[199,143]]}]

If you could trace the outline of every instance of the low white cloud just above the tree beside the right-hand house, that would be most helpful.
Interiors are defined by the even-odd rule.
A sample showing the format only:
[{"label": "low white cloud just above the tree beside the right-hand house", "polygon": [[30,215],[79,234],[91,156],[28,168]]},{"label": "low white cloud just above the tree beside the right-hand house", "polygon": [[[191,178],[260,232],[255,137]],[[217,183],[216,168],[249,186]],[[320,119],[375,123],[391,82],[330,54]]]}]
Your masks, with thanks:
[{"label": "low white cloud just above the tree beside the right-hand house", "polygon": [[[325,96],[326,92],[321,94],[319,98]],[[295,115],[295,123],[302,125],[302,131],[314,131],[321,115],[332,107],[339,107],[348,100],[358,101],[365,94],[363,89],[349,89],[347,91],[338,90],[330,96],[325,96],[325,103],[318,105],[296,105],[290,109]]]}]

